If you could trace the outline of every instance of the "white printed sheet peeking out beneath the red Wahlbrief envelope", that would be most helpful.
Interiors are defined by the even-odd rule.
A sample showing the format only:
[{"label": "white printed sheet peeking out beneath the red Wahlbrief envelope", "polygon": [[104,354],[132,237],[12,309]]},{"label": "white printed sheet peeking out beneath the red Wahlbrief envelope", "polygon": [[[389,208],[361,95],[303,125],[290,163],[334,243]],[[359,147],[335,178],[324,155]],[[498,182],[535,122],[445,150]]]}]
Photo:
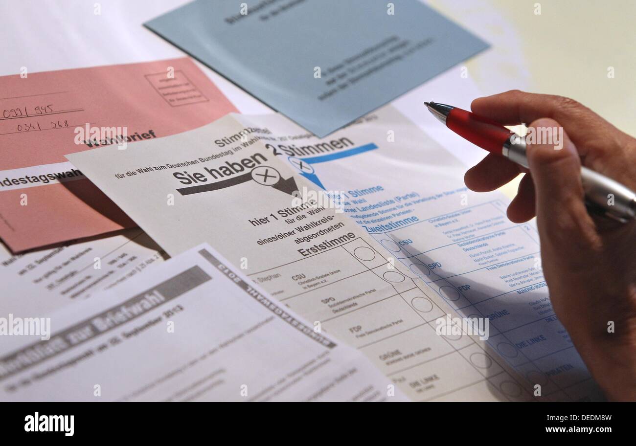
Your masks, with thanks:
[{"label": "white printed sheet peeking out beneath the red Wahlbrief envelope", "polygon": [[0,308],[6,316],[44,316],[111,288],[165,260],[135,227],[109,236],[13,255],[0,245]]}]

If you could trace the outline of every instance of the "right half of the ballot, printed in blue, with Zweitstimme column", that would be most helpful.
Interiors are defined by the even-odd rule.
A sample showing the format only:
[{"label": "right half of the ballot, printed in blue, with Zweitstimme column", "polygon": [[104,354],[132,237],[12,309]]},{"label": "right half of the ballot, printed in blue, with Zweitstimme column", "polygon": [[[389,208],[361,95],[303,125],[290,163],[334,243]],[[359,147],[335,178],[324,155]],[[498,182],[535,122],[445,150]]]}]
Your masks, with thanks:
[{"label": "right half of the ballot, printed in blue, with Zweitstimme column", "polygon": [[488,348],[541,396],[602,398],[551,306],[534,222],[509,221],[501,193],[469,191],[466,167],[399,112],[384,107],[327,140],[280,115],[237,119],[266,128],[268,149],[299,175],[342,191],[345,213],[454,314],[488,318]]}]

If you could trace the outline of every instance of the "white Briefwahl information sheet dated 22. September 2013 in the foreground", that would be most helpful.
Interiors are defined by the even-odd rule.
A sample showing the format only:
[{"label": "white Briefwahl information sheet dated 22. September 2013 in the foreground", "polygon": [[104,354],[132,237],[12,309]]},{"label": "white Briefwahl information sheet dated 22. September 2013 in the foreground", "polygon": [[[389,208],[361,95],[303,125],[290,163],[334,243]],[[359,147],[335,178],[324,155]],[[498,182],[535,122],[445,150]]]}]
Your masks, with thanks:
[{"label": "white Briefwahl information sheet dated 22. September 2013 in the foreground", "polygon": [[6,336],[0,400],[406,400],[211,247],[149,271],[53,314],[48,340]]}]

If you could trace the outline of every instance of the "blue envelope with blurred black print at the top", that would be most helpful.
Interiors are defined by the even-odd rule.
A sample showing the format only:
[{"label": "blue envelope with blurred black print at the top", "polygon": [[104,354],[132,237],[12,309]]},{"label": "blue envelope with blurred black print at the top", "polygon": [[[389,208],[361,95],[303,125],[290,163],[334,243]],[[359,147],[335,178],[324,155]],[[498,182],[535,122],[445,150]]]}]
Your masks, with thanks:
[{"label": "blue envelope with blurred black print at the top", "polygon": [[418,0],[198,0],[145,25],[319,137],[488,47]]}]

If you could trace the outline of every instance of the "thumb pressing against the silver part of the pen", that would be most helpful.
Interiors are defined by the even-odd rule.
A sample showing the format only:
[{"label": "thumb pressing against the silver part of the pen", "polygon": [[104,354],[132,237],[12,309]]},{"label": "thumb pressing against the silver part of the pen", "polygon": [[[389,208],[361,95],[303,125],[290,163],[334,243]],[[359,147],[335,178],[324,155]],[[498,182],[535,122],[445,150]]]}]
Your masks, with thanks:
[{"label": "thumb pressing against the silver part of the pen", "polygon": [[528,131],[527,158],[542,241],[562,253],[590,248],[598,238],[584,204],[581,158],[574,143],[554,119],[537,119]]}]

